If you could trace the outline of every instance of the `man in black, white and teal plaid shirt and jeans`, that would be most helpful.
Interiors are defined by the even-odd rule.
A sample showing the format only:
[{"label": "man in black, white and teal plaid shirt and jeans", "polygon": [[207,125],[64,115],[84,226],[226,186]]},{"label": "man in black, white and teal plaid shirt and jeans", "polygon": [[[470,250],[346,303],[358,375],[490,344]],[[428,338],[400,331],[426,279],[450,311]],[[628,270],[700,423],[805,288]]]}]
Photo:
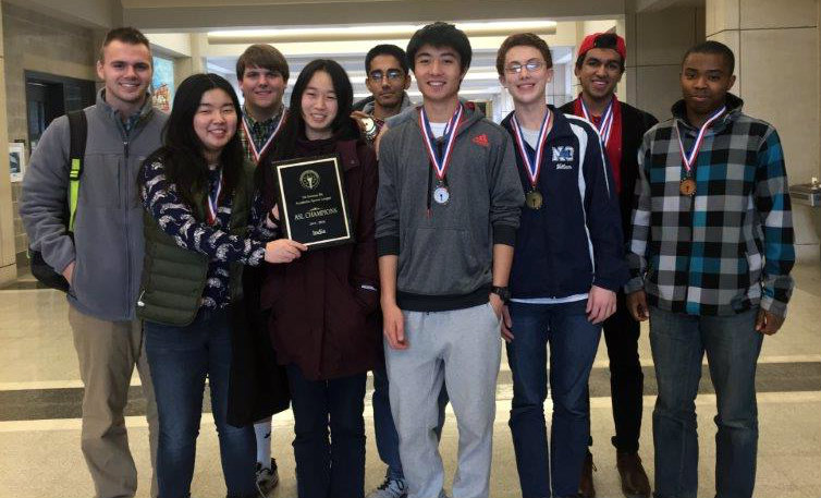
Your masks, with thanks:
[{"label": "man in black, white and teal plaid shirt and jeans", "polygon": [[[793,222],[775,129],[728,93],[733,52],[687,51],[684,99],[639,150],[627,306],[650,318],[659,396],[657,497],[695,497],[695,399],[707,352],[715,388],[715,488],[750,497],[756,482],[756,362],[784,323],[793,290]],[[681,135],[679,135],[681,134]],[[679,138],[681,137],[681,138]]]}]

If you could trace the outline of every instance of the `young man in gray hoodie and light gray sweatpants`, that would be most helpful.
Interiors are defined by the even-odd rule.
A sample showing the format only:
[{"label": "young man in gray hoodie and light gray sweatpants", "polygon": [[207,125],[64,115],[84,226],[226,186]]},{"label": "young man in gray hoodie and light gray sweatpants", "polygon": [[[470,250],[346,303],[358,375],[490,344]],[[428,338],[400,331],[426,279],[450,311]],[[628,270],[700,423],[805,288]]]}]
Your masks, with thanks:
[{"label": "young man in gray hoodie and light gray sweatpants", "polygon": [[508,134],[461,104],[470,44],[453,25],[407,47],[417,119],[382,138],[377,246],[385,363],[408,498],[444,496],[434,428],[445,384],[459,426],[454,497],[487,497],[501,355],[524,203]]}]

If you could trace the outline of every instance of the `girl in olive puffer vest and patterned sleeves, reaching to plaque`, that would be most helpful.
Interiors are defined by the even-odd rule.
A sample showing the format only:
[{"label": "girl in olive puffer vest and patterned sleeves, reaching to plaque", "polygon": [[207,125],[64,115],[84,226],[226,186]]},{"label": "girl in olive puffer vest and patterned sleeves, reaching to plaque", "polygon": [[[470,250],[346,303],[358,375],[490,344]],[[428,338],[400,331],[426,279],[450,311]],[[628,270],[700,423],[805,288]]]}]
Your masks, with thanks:
[{"label": "girl in olive puffer vest and patterned sleeves, reaching to plaque", "polygon": [[228,496],[257,496],[254,429],[228,423],[233,332],[245,323],[242,269],[279,263],[304,246],[265,242],[273,224],[253,197],[253,170],[236,135],[240,112],[224,78],[189,76],[177,89],[163,146],[138,178],[147,216],[137,315],[159,411],[163,497],[191,494],[206,377]]}]

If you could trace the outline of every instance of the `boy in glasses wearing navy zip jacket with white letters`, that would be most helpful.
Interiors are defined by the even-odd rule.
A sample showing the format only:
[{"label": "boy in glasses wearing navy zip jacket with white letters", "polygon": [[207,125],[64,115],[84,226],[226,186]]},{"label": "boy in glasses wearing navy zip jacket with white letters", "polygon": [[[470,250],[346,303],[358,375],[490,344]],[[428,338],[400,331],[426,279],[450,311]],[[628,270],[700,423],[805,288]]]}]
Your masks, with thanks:
[{"label": "boy in glasses wearing navy zip jacket with white letters", "polygon": [[[516,466],[525,497],[576,496],[590,433],[587,381],[601,323],[615,311],[615,293],[627,278],[618,205],[596,129],[546,104],[553,70],[544,40],[530,33],[510,36],[497,70],[515,107],[502,125],[516,144],[526,205],[502,326],[513,374]],[[550,446],[543,410],[548,344]]]}]

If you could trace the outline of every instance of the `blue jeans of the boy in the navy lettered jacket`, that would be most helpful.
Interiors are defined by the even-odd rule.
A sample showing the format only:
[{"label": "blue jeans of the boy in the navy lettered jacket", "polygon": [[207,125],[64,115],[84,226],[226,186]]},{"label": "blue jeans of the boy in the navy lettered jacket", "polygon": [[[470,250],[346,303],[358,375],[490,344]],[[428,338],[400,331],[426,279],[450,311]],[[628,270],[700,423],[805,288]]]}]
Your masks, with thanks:
[{"label": "blue jeans of the boy in the navy lettered jacket", "polygon": [[[511,303],[514,339],[507,343],[513,374],[511,433],[522,496],[576,496],[590,437],[587,381],[601,337],[601,325],[587,319],[587,300],[563,304]],[[553,422],[550,450],[544,422],[550,388]]]}]

